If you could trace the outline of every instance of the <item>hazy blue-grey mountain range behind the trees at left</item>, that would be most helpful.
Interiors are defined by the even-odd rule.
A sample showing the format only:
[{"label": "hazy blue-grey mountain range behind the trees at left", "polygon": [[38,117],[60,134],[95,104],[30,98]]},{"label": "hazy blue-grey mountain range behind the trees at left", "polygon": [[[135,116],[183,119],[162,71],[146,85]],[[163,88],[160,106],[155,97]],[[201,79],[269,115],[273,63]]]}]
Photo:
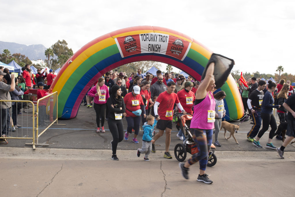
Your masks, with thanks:
[{"label": "hazy blue-grey mountain range behind the trees at left", "polygon": [[9,43],[0,41],[0,53],[3,53],[4,49],[8,49],[11,54],[20,53],[27,56],[30,60],[47,59],[45,57],[45,50],[47,49],[44,45],[23,45],[18,43]]}]

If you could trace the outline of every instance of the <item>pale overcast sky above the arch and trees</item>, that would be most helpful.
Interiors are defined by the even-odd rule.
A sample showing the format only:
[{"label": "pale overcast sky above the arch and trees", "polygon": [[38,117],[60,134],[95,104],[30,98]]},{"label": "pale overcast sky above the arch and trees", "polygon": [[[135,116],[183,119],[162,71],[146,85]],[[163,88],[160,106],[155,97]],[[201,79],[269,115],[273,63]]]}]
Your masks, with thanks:
[{"label": "pale overcast sky above the arch and trees", "polygon": [[[235,60],[233,70],[295,74],[294,0],[1,1],[0,40],[49,48],[66,40],[75,53],[126,27],[166,27]],[[178,71],[179,69],[174,69]]]}]

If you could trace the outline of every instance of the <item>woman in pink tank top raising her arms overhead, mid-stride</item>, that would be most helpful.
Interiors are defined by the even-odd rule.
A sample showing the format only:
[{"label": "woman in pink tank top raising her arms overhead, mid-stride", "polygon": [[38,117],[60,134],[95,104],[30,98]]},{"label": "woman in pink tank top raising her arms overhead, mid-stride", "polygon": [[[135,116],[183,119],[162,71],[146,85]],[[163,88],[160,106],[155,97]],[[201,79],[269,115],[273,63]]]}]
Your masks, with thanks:
[{"label": "woman in pink tank top raising her arms overhead, mid-stride", "polygon": [[209,64],[206,76],[196,91],[194,102],[194,114],[191,120],[191,134],[197,142],[199,152],[193,154],[186,163],[179,163],[181,174],[185,179],[189,179],[188,170],[191,165],[200,163],[200,173],[197,181],[213,183],[205,174],[208,163],[208,153],[212,144],[212,135],[215,122],[215,100],[213,92],[216,90],[214,80],[214,62]]}]

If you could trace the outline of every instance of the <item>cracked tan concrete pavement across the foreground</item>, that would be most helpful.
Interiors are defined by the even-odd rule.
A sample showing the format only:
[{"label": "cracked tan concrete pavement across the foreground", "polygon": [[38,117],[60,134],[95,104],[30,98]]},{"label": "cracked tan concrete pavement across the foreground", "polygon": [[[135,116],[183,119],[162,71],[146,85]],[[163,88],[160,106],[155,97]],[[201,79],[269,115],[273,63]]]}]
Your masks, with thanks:
[{"label": "cracked tan concrete pavement across the foreground", "polygon": [[[216,152],[217,153],[217,152]],[[1,148],[1,196],[294,196],[294,152],[219,151],[207,167],[213,183],[197,182],[199,165],[185,180],[176,159],[163,152],[150,161],[135,150]],[[5,189],[3,189],[5,188]]]}]

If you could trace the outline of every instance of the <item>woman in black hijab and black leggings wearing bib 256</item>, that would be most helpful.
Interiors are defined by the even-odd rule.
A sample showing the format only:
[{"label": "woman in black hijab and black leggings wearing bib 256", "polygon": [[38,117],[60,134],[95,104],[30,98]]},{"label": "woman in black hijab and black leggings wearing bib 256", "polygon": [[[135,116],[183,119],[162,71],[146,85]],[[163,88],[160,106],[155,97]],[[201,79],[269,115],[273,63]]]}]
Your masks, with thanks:
[{"label": "woman in black hijab and black leggings wearing bib 256", "polygon": [[117,157],[117,145],[120,141],[123,140],[124,132],[123,132],[123,113],[125,113],[125,104],[124,100],[121,96],[121,87],[118,85],[113,85],[110,93],[110,97],[108,98],[107,105],[109,108],[108,115],[108,125],[109,130],[112,133],[113,140],[111,141],[112,145],[112,159],[119,160]]}]

